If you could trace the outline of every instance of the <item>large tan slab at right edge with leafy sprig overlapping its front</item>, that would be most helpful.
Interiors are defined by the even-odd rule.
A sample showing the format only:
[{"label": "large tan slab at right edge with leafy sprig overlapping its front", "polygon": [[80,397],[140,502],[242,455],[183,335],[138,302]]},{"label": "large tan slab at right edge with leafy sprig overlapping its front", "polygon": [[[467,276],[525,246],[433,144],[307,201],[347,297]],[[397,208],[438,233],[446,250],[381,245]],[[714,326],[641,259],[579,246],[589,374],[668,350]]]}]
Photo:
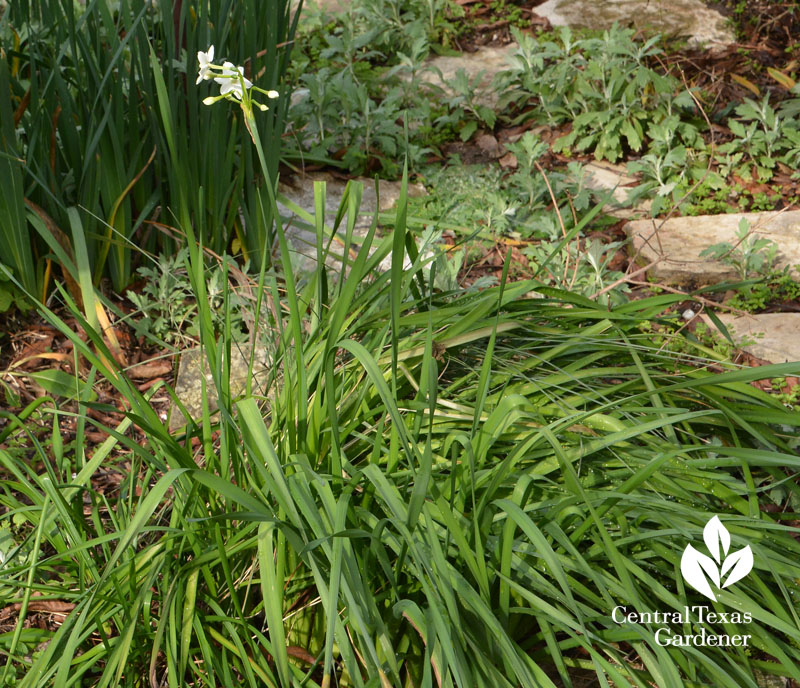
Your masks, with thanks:
[{"label": "large tan slab at right edge with leafy sprig overlapping its front", "polygon": [[625,225],[625,232],[638,264],[661,259],[649,271],[652,279],[694,288],[738,279],[731,266],[700,257],[700,253],[713,244],[735,245],[743,217],[754,234],[778,245],[776,268],[788,266],[797,275],[794,267],[800,264],[800,210],[635,220]]}]

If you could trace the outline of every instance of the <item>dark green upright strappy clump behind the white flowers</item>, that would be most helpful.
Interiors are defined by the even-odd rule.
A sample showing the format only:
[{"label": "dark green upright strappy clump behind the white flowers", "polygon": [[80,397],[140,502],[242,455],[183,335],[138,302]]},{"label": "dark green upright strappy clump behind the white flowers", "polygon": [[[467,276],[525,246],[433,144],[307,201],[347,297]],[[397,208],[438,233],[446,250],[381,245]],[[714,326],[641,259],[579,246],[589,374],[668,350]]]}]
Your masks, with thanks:
[{"label": "dark green upright strappy clump behind the white flowers", "polygon": [[[277,88],[297,18],[289,0],[9,5],[0,23],[19,40],[0,66],[0,173],[13,182],[0,195],[9,218],[0,248],[30,293],[43,292],[45,260],[69,268],[62,244],[74,240],[74,208],[95,283],[107,276],[118,292],[137,244],[177,250],[173,237],[189,224],[217,253],[236,236],[258,264],[271,235],[260,166],[232,126],[236,113],[202,104],[187,60],[216,43]],[[256,118],[271,182],[287,105]]]}]

